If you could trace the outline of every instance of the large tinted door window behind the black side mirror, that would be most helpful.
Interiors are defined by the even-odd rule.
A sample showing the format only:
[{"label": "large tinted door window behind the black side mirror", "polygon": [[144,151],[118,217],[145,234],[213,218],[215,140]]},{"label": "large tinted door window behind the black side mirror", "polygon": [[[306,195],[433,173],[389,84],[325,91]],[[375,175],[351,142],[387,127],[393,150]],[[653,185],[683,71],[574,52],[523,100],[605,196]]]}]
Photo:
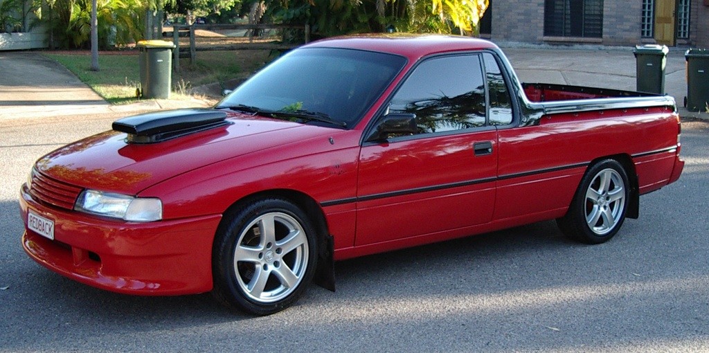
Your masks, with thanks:
[{"label": "large tinted door window behind the black side mirror", "polygon": [[485,125],[485,82],[479,55],[422,62],[391,100],[389,113],[416,114],[419,133]]}]

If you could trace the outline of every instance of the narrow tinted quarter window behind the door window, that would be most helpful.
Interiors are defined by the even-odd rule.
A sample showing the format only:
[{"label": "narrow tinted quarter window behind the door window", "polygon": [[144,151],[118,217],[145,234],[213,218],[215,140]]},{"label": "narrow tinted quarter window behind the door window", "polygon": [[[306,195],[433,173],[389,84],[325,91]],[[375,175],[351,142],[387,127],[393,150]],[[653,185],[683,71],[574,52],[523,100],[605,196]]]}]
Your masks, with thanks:
[{"label": "narrow tinted quarter window behind the door window", "polygon": [[492,54],[483,54],[488,91],[490,92],[490,125],[512,123],[512,101],[500,67]]}]

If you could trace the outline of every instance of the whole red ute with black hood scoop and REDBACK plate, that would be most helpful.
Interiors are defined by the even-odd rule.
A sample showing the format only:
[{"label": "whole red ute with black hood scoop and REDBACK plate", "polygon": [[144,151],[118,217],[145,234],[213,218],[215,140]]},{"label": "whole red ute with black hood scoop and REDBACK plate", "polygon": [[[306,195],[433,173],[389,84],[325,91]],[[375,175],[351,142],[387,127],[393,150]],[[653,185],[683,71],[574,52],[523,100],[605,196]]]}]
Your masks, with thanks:
[{"label": "whole red ute with black hood scoop and REDBACK plate", "polygon": [[679,178],[680,135],[670,96],[522,84],[484,40],[335,38],[40,158],[22,244],[84,284],[266,315],[339,259],[554,219],[605,242]]}]

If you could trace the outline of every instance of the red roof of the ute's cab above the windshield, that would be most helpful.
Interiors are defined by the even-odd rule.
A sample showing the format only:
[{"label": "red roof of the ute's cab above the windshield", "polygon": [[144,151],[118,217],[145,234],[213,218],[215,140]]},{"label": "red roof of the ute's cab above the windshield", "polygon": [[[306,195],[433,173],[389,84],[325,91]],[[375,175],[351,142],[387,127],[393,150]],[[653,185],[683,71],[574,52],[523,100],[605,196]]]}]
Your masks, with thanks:
[{"label": "red roof of the ute's cab above the windshield", "polygon": [[387,52],[416,60],[441,52],[498,49],[497,45],[478,38],[460,35],[415,35],[408,33],[377,33],[328,38],[303,47],[339,47],[345,49]]}]

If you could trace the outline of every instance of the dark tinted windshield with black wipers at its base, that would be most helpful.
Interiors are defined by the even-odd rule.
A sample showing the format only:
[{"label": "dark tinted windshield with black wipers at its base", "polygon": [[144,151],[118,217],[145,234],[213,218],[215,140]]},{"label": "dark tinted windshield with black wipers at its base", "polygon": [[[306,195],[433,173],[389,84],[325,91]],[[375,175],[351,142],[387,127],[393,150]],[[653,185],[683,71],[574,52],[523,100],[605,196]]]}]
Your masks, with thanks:
[{"label": "dark tinted windshield with black wipers at its base", "polygon": [[381,52],[294,50],[244,82],[217,108],[316,113],[351,128],[405,63],[404,57]]}]

